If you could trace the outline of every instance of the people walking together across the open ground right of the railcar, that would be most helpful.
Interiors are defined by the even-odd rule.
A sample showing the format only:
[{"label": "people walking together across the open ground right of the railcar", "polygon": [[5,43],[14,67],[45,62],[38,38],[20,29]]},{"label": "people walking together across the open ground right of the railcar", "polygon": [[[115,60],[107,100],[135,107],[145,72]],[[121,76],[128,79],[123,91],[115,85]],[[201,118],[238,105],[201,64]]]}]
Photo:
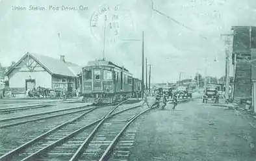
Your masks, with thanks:
[{"label": "people walking together across the open ground right of the railcar", "polygon": [[[157,107],[163,110],[170,97],[173,98],[172,109],[175,109],[175,106],[177,106],[178,101],[177,101],[177,95],[173,95],[172,88],[170,88],[168,92],[164,92],[162,88],[157,89],[157,93],[155,95],[155,103],[153,103],[151,108]],[[162,106],[160,106],[161,103],[162,103]]]}]

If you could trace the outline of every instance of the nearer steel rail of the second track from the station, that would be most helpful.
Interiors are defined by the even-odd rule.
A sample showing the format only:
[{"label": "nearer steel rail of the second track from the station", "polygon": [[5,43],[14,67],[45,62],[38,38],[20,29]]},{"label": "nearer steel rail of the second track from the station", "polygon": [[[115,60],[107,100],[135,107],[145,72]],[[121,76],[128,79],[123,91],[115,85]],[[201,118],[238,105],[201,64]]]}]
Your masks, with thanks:
[{"label": "nearer steel rail of the second track from the station", "polygon": [[[92,107],[92,108],[94,108],[94,107]],[[25,121],[20,121],[18,123],[10,123],[10,124],[6,124],[6,125],[0,125],[0,129],[3,129],[5,127],[12,127],[12,126],[15,126],[15,125],[21,125],[23,123],[29,123],[29,122],[39,121],[39,120],[43,120],[43,119],[55,118],[55,117],[58,117],[58,116],[65,116],[65,115],[69,115],[69,114],[75,114],[77,112],[83,112],[83,111],[86,111],[86,110],[91,110],[92,108],[86,108],[86,109],[83,109],[83,110],[76,110],[76,111],[68,112],[68,113],[64,113],[64,114],[55,114],[53,116],[46,116],[46,117],[43,117],[43,118],[29,119],[29,120],[25,120]]]}]

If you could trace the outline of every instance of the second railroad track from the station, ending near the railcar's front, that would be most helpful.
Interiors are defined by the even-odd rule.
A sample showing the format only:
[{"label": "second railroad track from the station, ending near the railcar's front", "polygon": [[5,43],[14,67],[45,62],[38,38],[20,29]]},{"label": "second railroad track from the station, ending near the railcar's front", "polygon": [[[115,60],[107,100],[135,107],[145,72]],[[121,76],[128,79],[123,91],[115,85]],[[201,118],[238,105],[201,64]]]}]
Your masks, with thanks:
[{"label": "second railroad track from the station, ending near the railcar's front", "polygon": [[52,110],[52,111],[40,112],[40,113],[36,113],[36,114],[29,114],[29,115],[25,115],[25,116],[0,119],[0,129],[5,128],[5,127],[12,127],[15,125],[21,125],[23,123],[29,123],[29,122],[33,122],[33,121],[39,121],[39,120],[43,120],[43,119],[55,118],[55,117],[59,117],[59,116],[65,116],[65,115],[69,115],[69,114],[84,112],[86,110],[91,110],[92,108],[94,108],[94,107],[77,106],[77,107],[72,107],[72,108],[63,108],[63,109],[59,109],[59,110]]}]

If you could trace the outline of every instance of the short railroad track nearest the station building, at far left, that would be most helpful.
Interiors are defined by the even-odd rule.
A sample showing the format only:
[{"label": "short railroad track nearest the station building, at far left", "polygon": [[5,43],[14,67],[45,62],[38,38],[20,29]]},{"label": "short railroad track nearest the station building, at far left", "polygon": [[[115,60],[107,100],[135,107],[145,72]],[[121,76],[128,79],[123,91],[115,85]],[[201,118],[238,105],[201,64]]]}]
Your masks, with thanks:
[{"label": "short railroad track nearest the station building, at far left", "polygon": [[9,114],[9,113],[18,112],[21,110],[44,108],[48,106],[53,106],[53,105],[27,105],[27,106],[18,106],[18,107],[11,107],[11,108],[0,108],[0,114],[6,114],[6,113]]}]

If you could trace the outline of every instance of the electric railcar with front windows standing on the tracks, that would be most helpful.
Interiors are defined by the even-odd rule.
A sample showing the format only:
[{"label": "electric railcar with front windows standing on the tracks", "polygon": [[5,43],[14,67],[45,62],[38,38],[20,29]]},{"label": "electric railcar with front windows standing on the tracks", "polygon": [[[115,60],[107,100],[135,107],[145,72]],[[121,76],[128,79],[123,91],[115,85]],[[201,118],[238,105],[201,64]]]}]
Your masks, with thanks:
[{"label": "electric railcar with front windows standing on the tracks", "polygon": [[133,97],[140,93],[141,84],[126,68],[107,60],[90,61],[82,72],[83,100],[88,103],[112,103]]}]

